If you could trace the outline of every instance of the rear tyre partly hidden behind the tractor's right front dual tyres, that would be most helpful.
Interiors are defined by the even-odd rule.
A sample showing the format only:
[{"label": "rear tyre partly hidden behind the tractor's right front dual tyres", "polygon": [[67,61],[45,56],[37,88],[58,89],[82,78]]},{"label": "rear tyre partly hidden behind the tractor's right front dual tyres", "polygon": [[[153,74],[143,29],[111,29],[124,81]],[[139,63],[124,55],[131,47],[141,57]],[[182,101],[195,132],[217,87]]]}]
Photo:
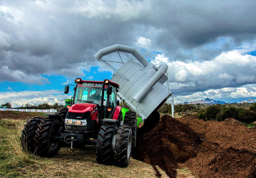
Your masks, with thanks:
[{"label": "rear tyre partly hidden behind the tractor's right front dual tyres", "polygon": [[129,111],[125,113],[124,125],[129,125],[132,132],[132,148],[136,147],[137,140],[137,116],[133,111]]}]

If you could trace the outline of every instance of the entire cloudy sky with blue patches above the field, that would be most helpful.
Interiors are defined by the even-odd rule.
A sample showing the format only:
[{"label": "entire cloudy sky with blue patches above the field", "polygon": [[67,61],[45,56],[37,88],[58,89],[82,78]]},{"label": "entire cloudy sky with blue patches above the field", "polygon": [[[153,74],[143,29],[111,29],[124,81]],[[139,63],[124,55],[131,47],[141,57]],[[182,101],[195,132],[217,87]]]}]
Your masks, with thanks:
[{"label": "entire cloudy sky with blue patches above the field", "polygon": [[255,99],[255,7],[255,0],[0,0],[0,104],[63,104],[76,77],[111,79],[92,55],[117,43],[168,64],[175,103]]}]

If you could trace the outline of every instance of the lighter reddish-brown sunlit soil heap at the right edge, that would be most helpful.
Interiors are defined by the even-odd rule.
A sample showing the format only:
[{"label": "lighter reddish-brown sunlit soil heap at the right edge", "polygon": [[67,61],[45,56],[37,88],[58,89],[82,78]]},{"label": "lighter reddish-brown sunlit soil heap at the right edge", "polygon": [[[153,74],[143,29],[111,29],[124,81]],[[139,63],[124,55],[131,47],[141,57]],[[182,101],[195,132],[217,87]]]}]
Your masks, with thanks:
[{"label": "lighter reddish-brown sunlit soil heap at the right edge", "polygon": [[[200,177],[256,177],[256,131],[228,118],[223,122],[201,122],[183,117],[187,125],[204,135],[200,152],[181,167]],[[180,120],[181,120],[180,119]],[[201,122],[201,125],[194,125]]]}]

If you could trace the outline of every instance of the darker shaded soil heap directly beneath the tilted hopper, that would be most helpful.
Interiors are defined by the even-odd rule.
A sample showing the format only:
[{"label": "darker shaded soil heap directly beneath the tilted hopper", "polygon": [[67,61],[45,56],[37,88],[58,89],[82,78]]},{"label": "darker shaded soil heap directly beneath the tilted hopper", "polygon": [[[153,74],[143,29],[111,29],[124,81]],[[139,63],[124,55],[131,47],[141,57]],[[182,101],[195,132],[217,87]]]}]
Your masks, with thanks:
[{"label": "darker shaded soil heap directly beneath the tilted hopper", "polygon": [[168,115],[164,115],[147,134],[141,135],[138,138],[137,159],[158,165],[170,177],[175,177],[178,163],[197,155],[197,147],[202,142],[190,127]]}]

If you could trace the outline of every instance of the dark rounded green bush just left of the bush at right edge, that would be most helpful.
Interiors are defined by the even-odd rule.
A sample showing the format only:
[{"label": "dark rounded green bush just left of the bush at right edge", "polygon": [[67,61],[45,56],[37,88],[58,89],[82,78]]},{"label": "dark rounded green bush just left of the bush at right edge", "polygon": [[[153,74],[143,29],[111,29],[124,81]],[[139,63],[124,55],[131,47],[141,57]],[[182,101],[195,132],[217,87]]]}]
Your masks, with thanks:
[{"label": "dark rounded green bush just left of the bush at right edge", "polygon": [[227,118],[235,118],[238,119],[239,118],[239,108],[235,108],[235,107],[227,107],[224,108],[222,112],[218,113],[218,115],[216,116],[216,119],[218,121],[222,121],[225,120]]}]

